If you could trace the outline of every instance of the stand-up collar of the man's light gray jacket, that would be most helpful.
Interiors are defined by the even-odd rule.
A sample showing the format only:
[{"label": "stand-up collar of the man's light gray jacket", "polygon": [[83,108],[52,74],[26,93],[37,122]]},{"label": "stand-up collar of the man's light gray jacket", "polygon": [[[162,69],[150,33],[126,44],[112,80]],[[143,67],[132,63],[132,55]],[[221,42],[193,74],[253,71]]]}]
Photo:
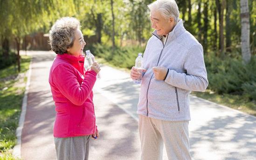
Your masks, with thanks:
[{"label": "stand-up collar of the man's light gray jacket", "polygon": [[[179,19],[178,23],[174,26],[173,30],[166,35],[166,37],[168,37],[167,40],[172,41],[175,38],[177,38],[178,36],[180,36],[180,34],[184,33],[185,31],[186,31],[186,29],[183,26],[183,20]],[[154,36],[156,36],[159,40],[161,40],[162,37],[157,34],[156,30],[154,30],[154,32],[152,34]]]}]

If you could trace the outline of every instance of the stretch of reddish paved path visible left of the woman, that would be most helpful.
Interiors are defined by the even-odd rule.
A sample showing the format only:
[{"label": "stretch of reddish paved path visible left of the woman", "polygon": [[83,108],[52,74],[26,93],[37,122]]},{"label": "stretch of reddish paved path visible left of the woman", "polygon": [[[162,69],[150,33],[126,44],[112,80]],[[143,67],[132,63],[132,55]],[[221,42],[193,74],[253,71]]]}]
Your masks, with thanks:
[{"label": "stretch of reddish paved path visible left of the woman", "polygon": [[33,56],[28,106],[21,136],[24,160],[55,160],[54,103],[48,85],[48,73],[54,58],[49,52],[28,52]]}]

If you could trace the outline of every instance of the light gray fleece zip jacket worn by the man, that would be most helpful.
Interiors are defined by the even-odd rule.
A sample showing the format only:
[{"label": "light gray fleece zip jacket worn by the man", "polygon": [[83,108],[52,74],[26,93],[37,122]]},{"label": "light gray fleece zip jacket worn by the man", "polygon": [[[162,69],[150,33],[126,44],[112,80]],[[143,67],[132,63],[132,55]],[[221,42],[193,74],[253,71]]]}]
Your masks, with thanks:
[{"label": "light gray fleece zip jacket worn by the man", "polygon": [[[208,86],[203,48],[183,27],[180,19],[163,44],[153,32],[143,56],[142,77],[137,113],[160,120],[190,119],[189,93],[205,91]],[[169,69],[166,80],[156,80],[152,67]]]}]

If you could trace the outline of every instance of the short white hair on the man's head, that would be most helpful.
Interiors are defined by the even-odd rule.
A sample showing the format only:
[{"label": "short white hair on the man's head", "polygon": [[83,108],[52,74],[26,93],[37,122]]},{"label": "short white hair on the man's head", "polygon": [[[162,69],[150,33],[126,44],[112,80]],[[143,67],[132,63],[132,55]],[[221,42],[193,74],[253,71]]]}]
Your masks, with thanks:
[{"label": "short white hair on the man's head", "polygon": [[175,23],[179,20],[180,12],[175,0],[156,0],[147,6],[150,11],[159,11],[166,19],[173,17]]}]

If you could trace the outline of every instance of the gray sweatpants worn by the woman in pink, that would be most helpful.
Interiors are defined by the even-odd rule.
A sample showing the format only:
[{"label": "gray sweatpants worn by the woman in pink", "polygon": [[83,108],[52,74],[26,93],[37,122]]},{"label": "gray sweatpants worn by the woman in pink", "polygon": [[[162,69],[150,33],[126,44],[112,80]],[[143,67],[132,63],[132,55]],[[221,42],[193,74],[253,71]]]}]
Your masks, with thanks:
[{"label": "gray sweatpants worn by the woman in pink", "polygon": [[88,160],[91,135],[54,138],[57,160]]}]

